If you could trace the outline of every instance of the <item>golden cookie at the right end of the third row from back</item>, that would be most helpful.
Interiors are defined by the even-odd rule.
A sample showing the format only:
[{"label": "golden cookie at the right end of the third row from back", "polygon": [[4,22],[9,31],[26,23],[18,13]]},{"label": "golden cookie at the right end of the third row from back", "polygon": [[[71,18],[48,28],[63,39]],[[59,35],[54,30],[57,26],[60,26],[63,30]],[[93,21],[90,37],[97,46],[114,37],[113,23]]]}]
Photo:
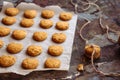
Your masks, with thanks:
[{"label": "golden cookie at the right end of the third row from back", "polygon": [[66,40],[66,35],[64,33],[54,33],[52,40],[56,43],[63,43]]}]

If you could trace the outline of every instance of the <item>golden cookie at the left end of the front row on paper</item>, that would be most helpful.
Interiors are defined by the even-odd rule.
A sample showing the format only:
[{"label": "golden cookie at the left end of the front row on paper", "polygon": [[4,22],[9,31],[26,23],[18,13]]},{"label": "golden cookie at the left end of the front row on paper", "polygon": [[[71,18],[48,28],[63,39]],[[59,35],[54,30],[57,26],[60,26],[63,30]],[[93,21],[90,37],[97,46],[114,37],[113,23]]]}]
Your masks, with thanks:
[{"label": "golden cookie at the left end of the front row on paper", "polygon": [[2,55],[0,56],[0,66],[1,67],[10,67],[14,65],[16,58],[12,55]]}]

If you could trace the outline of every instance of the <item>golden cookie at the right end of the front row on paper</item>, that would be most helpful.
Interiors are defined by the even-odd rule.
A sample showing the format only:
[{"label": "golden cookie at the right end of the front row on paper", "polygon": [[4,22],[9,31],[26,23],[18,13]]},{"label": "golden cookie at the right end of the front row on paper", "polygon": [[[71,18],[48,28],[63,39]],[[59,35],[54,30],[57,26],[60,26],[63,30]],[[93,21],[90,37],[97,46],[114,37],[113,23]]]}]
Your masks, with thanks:
[{"label": "golden cookie at the right end of the front row on paper", "polygon": [[44,66],[45,68],[59,68],[61,65],[61,61],[56,58],[47,58]]}]

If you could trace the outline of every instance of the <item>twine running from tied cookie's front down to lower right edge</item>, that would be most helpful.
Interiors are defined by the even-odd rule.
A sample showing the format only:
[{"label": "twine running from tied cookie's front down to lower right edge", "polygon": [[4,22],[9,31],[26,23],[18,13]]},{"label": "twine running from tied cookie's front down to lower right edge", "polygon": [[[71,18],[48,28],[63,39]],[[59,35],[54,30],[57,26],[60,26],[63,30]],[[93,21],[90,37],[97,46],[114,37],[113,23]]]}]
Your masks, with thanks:
[{"label": "twine running from tied cookie's front down to lower right edge", "polygon": [[104,75],[104,76],[120,76],[119,73],[104,73],[104,72],[98,70],[95,67],[95,65],[94,65],[94,58],[93,58],[93,56],[95,54],[95,48],[94,48],[94,45],[92,45],[92,46],[93,46],[93,52],[92,52],[92,55],[91,55],[91,65],[92,65],[94,71],[97,72],[97,73],[99,73],[99,74],[101,74],[101,75]]}]

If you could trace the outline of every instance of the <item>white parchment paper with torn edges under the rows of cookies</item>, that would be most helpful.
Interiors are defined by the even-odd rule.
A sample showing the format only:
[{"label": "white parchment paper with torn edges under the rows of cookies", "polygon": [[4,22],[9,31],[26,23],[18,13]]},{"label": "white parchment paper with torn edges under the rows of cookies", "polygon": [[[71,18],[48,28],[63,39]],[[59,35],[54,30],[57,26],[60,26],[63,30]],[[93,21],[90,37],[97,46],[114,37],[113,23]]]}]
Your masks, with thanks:
[{"label": "white parchment paper with torn edges under the rows of cookies", "polygon": [[[12,3],[10,2],[4,2],[4,5],[3,5],[3,8],[2,8],[2,11],[0,13],[0,20],[5,17],[6,15],[4,14],[4,10],[8,7],[14,7]],[[16,29],[24,29],[27,31],[27,37],[23,40],[15,40],[13,38],[11,38],[11,34],[12,34],[12,31],[10,33],[10,35],[6,36],[6,37],[0,37],[1,40],[3,40],[5,42],[5,45],[4,47],[2,47],[0,49],[0,56],[3,55],[3,54],[9,54],[9,55],[14,55],[16,57],[16,63],[11,66],[11,67],[8,67],[8,68],[2,68],[0,67],[0,73],[8,73],[8,72],[13,72],[13,73],[17,73],[17,74],[21,74],[21,75],[26,75],[32,71],[42,71],[42,70],[69,70],[69,67],[70,67],[70,59],[71,59],[71,53],[72,53],[72,45],[73,45],[73,40],[74,40],[74,33],[75,33],[75,28],[76,28],[76,22],[77,22],[77,15],[72,13],[73,14],[73,17],[72,19],[69,21],[69,29],[68,30],[65,30],[65,31],[59,31],[55,28],[55,24],[56,22],[60,21],[59,20],[59,13],[60,12],[63,12],[64,10],[62,10],[59,6],[47,6],[45,8],[42,8],[34,3],[25,3],[25,2],[22,2],[20,3],[17,8],[20,10],[20,13],[15,16],[17,18],[17,22],[11,26],[7,26],[9,28],[13,30],[16,30]],[[35,9],[37,10],[38,14],[37,14],[37,17],[34,18],[34,25],[30,28],[23,28],[19,25],[21,19],[23,18],[23,12],[27,9]],[[41,14],[41,10],[43,9],[51,9],[51,10],[54,10],[55,11],[55,16],[53,18],[51,18],[51,20],[54,22],[54,25],[50,28],[50,29],[42,29],[39,27],[39,22],[41,19],[43,19],[40,14]],[[0,22],[0,25],[1,26],[6,26],[4,24],[2,24]],[[36,42],[32,39],[32,35],[34,32],[36,31],[45,31],[47,32],[48,34],[48,37],[45,41],[43,42]],[[63,32],[66,34],[67,36],[67,39],[64,43],[62,44],[56,44],[54,42],[51,41],[51,37],[52,37],[52,34],[56,33],[56,32]],[[10,54],[6,51],[6,46],[8,43],[10,42],[19,42],[19,43],[22,43],[24,45],[24,49],[18,53],[18,54]],[[31,58],[38,58],[39,59],[39,66],[37,67],[37,69],[35,70],[25,70],[21,67],[21,62],[23,61],[23,59],[25,59],[26,57],[30,57],[28,56],[25,52],[26,52],[26,48],[31,45],[31,44],[36,44],[36,45],[40,45],[42,46],[43,48],[43,52],[42,54],[40,54],[39,56],[37,57],[31,57]],[[46,69],[44,68],[44,62],[45,60],[48,58],[48,57],[53,57],[53,56],[50,56],[48,53],[47,53],[47,49],[50,45],[62,45],[64,47],[64,51],[63,51],[63,54],[58,56],[58,57],[55,57],[55,58],[58,58],[61,60],[61,67],[58,68],[58,69]]]}]

